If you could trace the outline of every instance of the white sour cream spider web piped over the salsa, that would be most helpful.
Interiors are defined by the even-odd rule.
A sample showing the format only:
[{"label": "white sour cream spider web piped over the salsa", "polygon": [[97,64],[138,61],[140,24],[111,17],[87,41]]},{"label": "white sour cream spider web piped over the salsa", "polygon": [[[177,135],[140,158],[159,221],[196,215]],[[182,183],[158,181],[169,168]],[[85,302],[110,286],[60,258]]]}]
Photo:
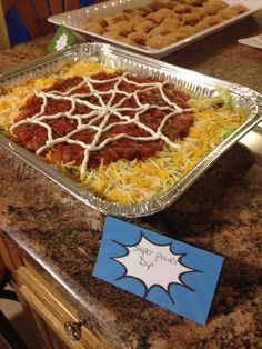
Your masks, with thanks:
[{"label": "white sour cream spider web piped over the salsa", "polygon": [[[119,86],[121,84],[121,82],[137,86],[138,90],[131,93],[127,91],[122,91],[119,89]],[[110,88],[107,91],[99,91],[98,89],[95,89],[95,86],[105,84],[105,83],[114,83],[114,84],[113,84],[113,88]],[[177,103],[172,102],[168,98],[168,96],[164,93],[163,88],[165,84],[168,84],[168,82],[137,82],[133,80],[129,80],[129,78],[127,77],[127,73],[123,73],[121,76],[105,79],[105,80],[95,80],[93,78],[87,77],[87,78],[83,78],[83,80],[79,82],[77,86],[73,86],[71,89],[69,89],[66,92],[60,92],[56,90],[40,91],[40,92],[34,91],[36,97],[42,99],[40,111],[30,118],[27,118],[24,120],[17,122],[10,128],[10,131],[12,132],[14,128],[21,124],[39,124],[41,127],[44,127],[47,129],[48,139],[46,143],[36,151],[37,154],[41,154],[47,149],[52,148],[53,146],[58,143],[63,143],[63,142],[78,144],[82,147],[84,149],[84,157],[80,167],[80,173],[81,173],[81,179],[84,179],[87,176],[87,167],[89,162],[90,152],[99,151],[103,149],[107,144],[119,139],[125,138],[125,139],[132,139],[132,140],[138,140],[138,141],[155,141],[155,140],[162,139],[170,147],[180,148],[179,144],[174,143],[167,136],[162,133],[162,129],[171,117],[183,113],[183,112],[189,112],[192,109],[191,108],[182,109]],[[88,86],[89,91],[90,91],[89,93],[77,92],[73,94],[74,91],[78,91],[78,89],[80,89],[83,86]],[[144,92],[153,91],[153,90],[159,90],[161,98],[167,103],[167,106],[149,104],[149,103],[141,102],[139,94],[141,94],[141,92],[144,93]],[[109,94],[110,98],[108,102],[104,102],[102,97],[107,94]],[[120,99],[119,102],[112,106],[115,97],[119,94],[122,96],[122,98]],[[90,101],[84,100],[89,97],[95,97],[98,100],[98,104],[94,104]],[[133,107],[133,108],[124,107],[124,102],[129,100],[130,98],[133,98],[135,100],[137,107]],[[57,112],[54,114],[44,114],[49,99],[70,101],[71,108],[68,111]],[[90,112],[87,112],[84,114],[74,113],[77,109],[77,103],[88,107],[90,109]],[[148,127],[140,120],[140,117],[144,114],[147,111],[149,111],[150,109],[151,110],[159,109],[159,110],[168,112],[165,117],[163,118],[163,120],[161,121],[161,124],[159,126],[157,131],[152,130],[150,127]],[[124,112],[127,111],[132,112],[133,117],[129,117],[124,114]],[[119,121],[108,123],[111,116],[119,118]],[[77,121],[77,128],[63,137],[53,139],[52,128],[44,121],[59,119],[61,117],[67,117],[68,119]],[[101,120],[99,126],[93,124],[94,122],[99,120]],[[139,128],[145,130],[148,132],[148,136],[134,137],[134,136],[129,136],[127,133],[119,133],[114,137],[107,138],[100,143],[101,136],[104,132],[108,132],[110,129],[112,129],[115,126],[129,124],[129,123],[133,123],[138,126]],[[92,130],[94,132],[93,140],[90,144],[84,143],[83,141],[80,141],[80,140],[71,139],[72,136],[84,130]]]}]

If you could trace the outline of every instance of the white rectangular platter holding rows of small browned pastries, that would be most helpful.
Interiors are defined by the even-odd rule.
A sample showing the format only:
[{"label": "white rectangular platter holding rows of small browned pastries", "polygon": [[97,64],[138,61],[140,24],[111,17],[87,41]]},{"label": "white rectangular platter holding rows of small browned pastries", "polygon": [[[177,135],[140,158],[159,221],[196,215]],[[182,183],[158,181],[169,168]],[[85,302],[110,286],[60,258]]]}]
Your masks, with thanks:
[{"label": "white rectangular platter holding rows of small browned pastries", "polygon": [[249,11],[244,12],[243,14],[240,14],[235,18],[232,18],[230,20],[225,20],[222,23],[219,23],[216,26],[213,26],[209,29],[203,30],[202,32],[195,33],[193,36],[190,36],[183,40],[180,40],[175,43],[172,43],[168,47],[164,47],[162,49],[152,49],[148,47],[134,47],[127,44],[124,42],[109,39],[103,37],[102,34],[95,34],[91,31],[84,30],[84,23],[91,18],[95,17],[107,17],[113,13],[117,13],[119,11],[123,11],[127,9],[135,9],[141,6],[147,6],[151,3],[152,0],[113,0],[113,1],[107,1],[101,2],[98,4],[89,6],[85,8],[81,8],[74,11],[69,11],[64,13],[60,13],[57,16],[50,17],[48,20],[51,23],[54,23],[57,26],[64,26],[69,29],[71,29],[79,38],[83,40],[91,40],[91,41],[104,41],[111,44],[119,46],[124,49],[133,50],[142,54],[147,54],[152,58],[162,58],[164,56],[168,56],[174,51],[178,51],[185,46],[189,46],[204,37],[208,37],[221,29],[224,29],[229,26],[232,26],[244,18],[251,16],[253,12],[255,12],[259,9],[262,9],[262,0],[224,0],[229,6],[233,6],[236,3],[244,4],[246,8],[249,8]]}]

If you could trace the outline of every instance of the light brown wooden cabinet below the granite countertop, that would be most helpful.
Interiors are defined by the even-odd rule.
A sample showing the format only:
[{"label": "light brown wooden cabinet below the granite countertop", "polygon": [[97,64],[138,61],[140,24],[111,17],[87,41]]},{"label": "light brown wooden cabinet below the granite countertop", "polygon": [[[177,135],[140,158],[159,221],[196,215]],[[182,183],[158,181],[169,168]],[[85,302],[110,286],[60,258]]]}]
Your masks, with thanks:
[{"label": "light brown wooden cabinet below the granite countertop", "polygon": [[18,249],[0,236],[0,255],[11,272],[12,287],[30,318],[39,349],[113,348],[88,326],[81,327],[81,338],[73,340],[64,329],[67,322],[78,323],[79,315],[58,290],[51,286]]}]

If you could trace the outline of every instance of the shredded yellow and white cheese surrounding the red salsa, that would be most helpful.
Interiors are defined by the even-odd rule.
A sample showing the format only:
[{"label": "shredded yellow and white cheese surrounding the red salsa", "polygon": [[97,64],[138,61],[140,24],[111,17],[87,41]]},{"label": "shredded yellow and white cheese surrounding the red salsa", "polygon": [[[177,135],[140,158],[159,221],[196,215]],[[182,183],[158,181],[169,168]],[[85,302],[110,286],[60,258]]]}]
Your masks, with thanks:
[{"label": "shredded yellow and white cheese surrounding the red salsa", "polygon": [[[19,109],[33,91],[49,88],[61,78],[88,77],[101,71],[112,72],[112,69],[81,61],[47,78],[30,79],[18,87],[4,87],[0,96],[0,128],[9,131]],[[246,119],[243,110],[226,103],[221,106],[221,101],[215,103],[215,100],[192,98],[190,107],[194,110],[195,122],[189,136],[177,141],[179,147],[165,144],[155,157],[144,161],[120,159],[109,166],[102,161],[99,169],[89,170],[84,178],[80,167],[73,162],[61,163],[58,168],[107,201],[128,205],[150,200],[169,190]],[[49,161],[48,153],[44,159]]]}]

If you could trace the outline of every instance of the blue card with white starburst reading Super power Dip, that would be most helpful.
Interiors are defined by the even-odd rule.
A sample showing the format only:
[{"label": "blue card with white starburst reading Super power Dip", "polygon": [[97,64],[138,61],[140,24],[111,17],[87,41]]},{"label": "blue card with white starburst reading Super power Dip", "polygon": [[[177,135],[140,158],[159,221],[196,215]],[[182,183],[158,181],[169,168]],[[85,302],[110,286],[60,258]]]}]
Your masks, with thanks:
[{"label": "blue card with white starburst reading Super power Dip", "polygon": [[204,325],[223,260],[107,217],[93,276]]}]

